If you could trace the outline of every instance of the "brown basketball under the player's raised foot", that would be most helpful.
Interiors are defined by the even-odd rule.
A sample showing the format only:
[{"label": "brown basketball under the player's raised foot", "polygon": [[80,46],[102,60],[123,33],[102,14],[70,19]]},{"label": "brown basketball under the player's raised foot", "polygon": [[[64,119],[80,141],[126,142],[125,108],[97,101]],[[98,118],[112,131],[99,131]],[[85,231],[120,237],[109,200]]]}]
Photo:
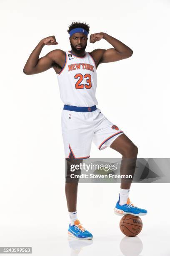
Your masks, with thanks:
[{"label": "brown basketball under the player's raised foot", "polygon": [[142,220],[138,216],[127,214],[120,220],[120,230],[126,236],[137,236],[142,230],[142,227]]}]

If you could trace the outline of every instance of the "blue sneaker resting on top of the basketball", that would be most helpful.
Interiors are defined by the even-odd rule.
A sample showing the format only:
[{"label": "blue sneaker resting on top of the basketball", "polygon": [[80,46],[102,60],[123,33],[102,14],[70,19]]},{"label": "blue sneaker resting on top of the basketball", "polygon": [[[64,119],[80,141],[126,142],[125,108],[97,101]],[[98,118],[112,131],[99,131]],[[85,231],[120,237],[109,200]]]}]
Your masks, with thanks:
[{"label": "blue sneaker resting on top of the basketball", "polygon": [[118,202],[116,203],[115,210],[116,215],[126,215],[131,214],[134,216],[144,216],[148,212],[145,209],[140,209],[137,206],[133,205],[128,198],[128,201],[125,205],[120,205]]}]

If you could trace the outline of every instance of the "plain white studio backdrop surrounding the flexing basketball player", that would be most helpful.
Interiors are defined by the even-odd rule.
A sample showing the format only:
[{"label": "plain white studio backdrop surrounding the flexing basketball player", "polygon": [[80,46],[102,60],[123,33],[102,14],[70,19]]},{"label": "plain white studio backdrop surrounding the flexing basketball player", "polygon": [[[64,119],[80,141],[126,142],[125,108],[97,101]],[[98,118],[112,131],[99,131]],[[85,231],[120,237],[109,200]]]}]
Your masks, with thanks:
[{"label": "plain white studio backdrop surrounding the flexing basketball player", "polygon": [[[40,57],[53,49],[70,50],[67,28],[75,20],[86,21],[90,33],[106,32],[128,45],[133,56],[97,68],[98,108],[138,146],[138,157],[168,158],[170,3],[1,0],[0,6],[0,246],[38,247],[38,238],[51,244],[55,236],[67,236],[60,124],[63,104],[54,70],[27,76],[23,73],[25,62],[47,36],[55,35],[59,44],[44,46]],[[104,39],[95,44],[88,41],[86,51],[111,47]],[[90,156],[121,157],[110,148],[99,151],[94,144]],[[143,241],[156,230],[153,218],[158,220],[161,216],[158,205],[166,202],[168,187],[169,184],[131,187],[130,199],[150,211],[143,218]],[[119,184],[79,185],[78,217],[99,241],[115,233],[121,236],[118,226],[115,228],[119,218],[113,214],[118,193]],[[165,219],[163,223],[166,225]],[[160,226],[160,230],[164,228]],[[96,253],[95,249],[90,251],[95,248],[93,244],[88,248],[90,256]],[[46,251],[40,255],[46,255],[43,253]],[[60,250],[60,255],[67,253]],[[149,249],[143,255],[150,255]]]}]

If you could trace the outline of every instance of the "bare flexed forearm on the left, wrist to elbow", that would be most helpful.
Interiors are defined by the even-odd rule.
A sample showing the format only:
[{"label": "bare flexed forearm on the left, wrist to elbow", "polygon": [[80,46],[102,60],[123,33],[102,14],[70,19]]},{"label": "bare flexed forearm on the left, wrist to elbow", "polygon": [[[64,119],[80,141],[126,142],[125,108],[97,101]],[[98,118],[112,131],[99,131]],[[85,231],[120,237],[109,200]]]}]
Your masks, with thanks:
[{"label": "bare flexed forearm on the left, wrist to elbow", "polygon": [[42,41],[40,41],[37,44],[35,49],[30,54],[25,66],[24,66],[23,72],[29,71],[29,70],[33,69],[36,66],[43,46],[45,46],[45,44]]}]

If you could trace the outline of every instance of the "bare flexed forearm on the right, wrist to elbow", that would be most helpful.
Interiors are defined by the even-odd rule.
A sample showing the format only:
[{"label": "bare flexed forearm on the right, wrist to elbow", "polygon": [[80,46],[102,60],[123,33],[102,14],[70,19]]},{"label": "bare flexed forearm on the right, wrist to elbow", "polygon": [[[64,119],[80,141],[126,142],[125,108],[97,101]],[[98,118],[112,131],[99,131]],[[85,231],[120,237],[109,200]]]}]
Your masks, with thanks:
[{"label": "bare flexed forearm on the right, wrist to elbow", "polygon": [[107,33],[104,33],[103,38],[108,43],[110,43],[116,49],[116,51],[118,51],[120,53],[127,53],[127,54],[132,54],[133,53],[133,50],[130,49],[127,45],[123,44],[122,42],[120,42],[116,38],[108,35]]}]

